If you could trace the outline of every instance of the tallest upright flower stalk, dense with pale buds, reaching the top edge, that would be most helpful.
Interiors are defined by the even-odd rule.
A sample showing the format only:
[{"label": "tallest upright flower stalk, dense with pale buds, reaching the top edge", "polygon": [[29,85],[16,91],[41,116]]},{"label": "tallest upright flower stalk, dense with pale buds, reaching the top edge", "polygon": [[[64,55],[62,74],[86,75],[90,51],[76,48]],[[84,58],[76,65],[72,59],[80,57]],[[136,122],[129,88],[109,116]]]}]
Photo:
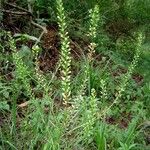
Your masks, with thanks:
[{"label": "tallest upright flower stalk, dense with pale buds, reaching the top edge", "polygon": [[57,0],[57,19],[59,25],[59,35],[61,38],[60,69],[62,98],[64,104],[67,104],[71,98],[71,49],[67,32],[66,15],[62,0]]}]

